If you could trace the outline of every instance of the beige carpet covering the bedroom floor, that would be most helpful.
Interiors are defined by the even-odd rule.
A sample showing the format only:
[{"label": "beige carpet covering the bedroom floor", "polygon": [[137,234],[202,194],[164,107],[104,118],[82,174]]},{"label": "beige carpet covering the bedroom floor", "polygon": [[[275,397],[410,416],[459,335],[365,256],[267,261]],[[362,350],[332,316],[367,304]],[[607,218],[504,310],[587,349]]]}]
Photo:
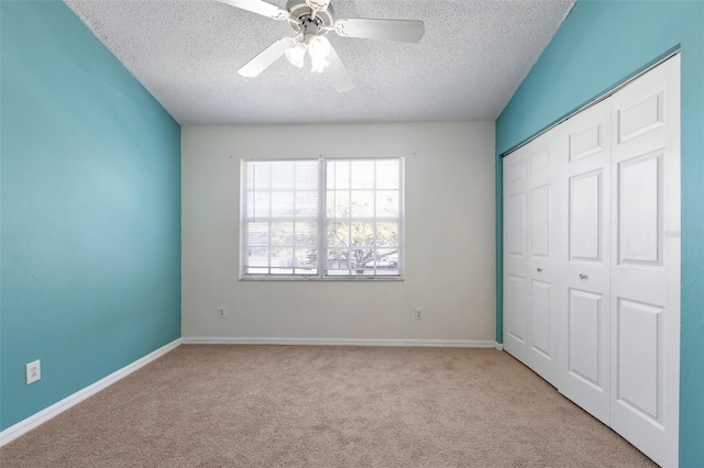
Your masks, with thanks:
[{"label": "beige carpet covering the bedroom floor", "polygon": [[506,353],[306,346],[180,346],[0,465],[653,466]]}]

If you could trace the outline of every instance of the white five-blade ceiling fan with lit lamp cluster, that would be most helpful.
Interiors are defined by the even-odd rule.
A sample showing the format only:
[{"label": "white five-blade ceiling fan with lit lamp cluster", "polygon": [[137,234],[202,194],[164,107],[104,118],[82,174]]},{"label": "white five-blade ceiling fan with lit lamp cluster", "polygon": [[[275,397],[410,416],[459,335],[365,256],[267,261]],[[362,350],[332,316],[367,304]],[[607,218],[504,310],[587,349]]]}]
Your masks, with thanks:
[{"label": "white five-blade ceiling fan with lit lamp cluster", "polygon": [[217,0],[242,10],[251,11],[277,21],[287,21],[294,35],[284,36],[266,47],[238,70],[243,77],[255,77],[280,56],[297,67],[302,67],[310,56],[311,71],[326,73],[339,92],[354,88],[354,82],[326,37],[334,31],[344,37],[418,42],[426,30],[422,21],[334,19],[330,0],[288,0],[279,8],[263,0]]}]

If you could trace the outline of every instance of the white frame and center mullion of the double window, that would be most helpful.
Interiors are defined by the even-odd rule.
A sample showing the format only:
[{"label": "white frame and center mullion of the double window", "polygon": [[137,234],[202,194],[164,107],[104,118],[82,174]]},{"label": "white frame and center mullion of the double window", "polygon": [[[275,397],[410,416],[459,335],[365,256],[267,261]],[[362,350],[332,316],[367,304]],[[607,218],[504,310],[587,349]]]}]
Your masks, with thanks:
[{"label": "white frame and center mullion of the double window", "polygon": [[[318,245],[316,246],[317,252],[318,252],[318,256],[317,256],[317,272],[316,274],[249,274],[245,272],[245,268],[248,267],[248,265],[245,265],[245,260],[248,258],[248,225],[249,225],[249,220],[246,218],[246,191],[248,191],[248,186],[246,186],[246,171],[245,171],[245,165],[248,163],[295,163],[295,161],[312,161],[312,160],[317,160],[318,161],[318,215],[317,215],[317,223],[318,223]],[[389,216],[377,216],[376,213],[374,216],[352,216],[350,213],[349,220],[350,223],[355,222],[355,221],[360,221],[360,222],[397,222],[398,223],[398,238],[397,238],[397,253],[396,253],[396,257],[397,257],[397,265],[396,265],[396,274],[377,274],[377,271],[384,271],[384,268],[380,268],[377,269],[377,263],[374,261],[373,266],[371,268],[366,268],[367,270],[373,270],[374,274],[373,275],[358,275],[358,274],[352,274],[352,268],[349,267],[350,274],[349,275],[341,275],[341,274],[336,274],[336,275],[330,275],[328,274],[328,249],[330,248],[328,246],[328,209],[327,209],[327,192],[328,192],[328,187],[326,186],[326,163],[328,161],[334,161],[334,163],[340,163],[340,161],[359,161],[359,160],[363,160],[363,161],[370,161],[370,160],[374,160],[374,161],[380,161],[380,160],[395,160],[398,161],[398,216],[397,218],[389,218]],[[348,189],[350,191],[352,191],[352,189]],[[376,194],[376,191],[385,191],[385,190],[389,190],[389,189],[380,189],[376,185],[375,181],[375,188],[374,188],[374,192]],[[393,189],[391,189],[393,191]],[[240,161],[240,260],[239,260],[239,268],[240,268],[240,280],[264,280],[264,281],[272,281],[272,280],[278,280],[278,281],[399,281],[399,280],[404,280],[404,271],[405,271],[405,250],[404,250],[404,233],[405,233],[405,192],[406,192],[406,187],[405,187],[405,159],[403,157],[358,157],[358,158],[318,158],[318,159],[314,159],[314,158],[279,158],[279,159],[242,159]],[[376,197],[374,197],[374,199],[376,200]],[[376,203],[376,201],[375,201]],[[270,222],[272,222],[273,219],[276,219],[277,221],[286,221],[286,220],[290,220],[288,218],[276,218],[273,216],[271,213],[268,216],[263,216],[262,220],[268,220]],[[375,226],[376,229],[376,226]],[[375,231],[376,233],[376,231]],[[376,236],[375,236],[376,238]],[[360,248],[373,248],[375,250],[377,249],[384,249],[385,246],[378,246],[378,245],[371,245],[371,246],[359,246]],[[352,249],[352,246],[349,246],[348,248]],[[393,248],[389,247],[389,248]],[[271,255],[271,253],[270,253]],[[270,269],[271,269],[271,260],[270,260]],[[394,270],[394,271],[396,271]]]}]

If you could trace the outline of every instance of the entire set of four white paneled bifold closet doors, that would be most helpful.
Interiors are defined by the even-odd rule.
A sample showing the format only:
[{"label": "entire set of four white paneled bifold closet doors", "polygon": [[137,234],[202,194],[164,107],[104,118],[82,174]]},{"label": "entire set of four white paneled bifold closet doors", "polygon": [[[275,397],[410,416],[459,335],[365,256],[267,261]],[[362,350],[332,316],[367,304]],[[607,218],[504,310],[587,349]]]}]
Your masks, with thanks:
[{"label": "entire set of four white paneled bifold closet doors", "polygon": [[504,346],[678,465],[679,55],[504,158]]}]

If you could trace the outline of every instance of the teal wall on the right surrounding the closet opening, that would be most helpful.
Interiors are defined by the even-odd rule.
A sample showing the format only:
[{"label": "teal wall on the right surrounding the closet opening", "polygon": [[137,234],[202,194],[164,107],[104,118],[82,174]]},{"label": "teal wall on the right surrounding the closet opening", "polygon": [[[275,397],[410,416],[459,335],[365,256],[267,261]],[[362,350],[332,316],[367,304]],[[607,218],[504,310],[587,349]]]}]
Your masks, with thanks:
[{"label": "teal wall on the right surrounding the closet opening", "polygon": [[[501,156],[652,64],[682,53],[680,466],[704,465],[704,2],[580,0],[496,122]],[[501,246],[501,203],[497,208]],[[501,250],[497,339],[502,339]]]}]

